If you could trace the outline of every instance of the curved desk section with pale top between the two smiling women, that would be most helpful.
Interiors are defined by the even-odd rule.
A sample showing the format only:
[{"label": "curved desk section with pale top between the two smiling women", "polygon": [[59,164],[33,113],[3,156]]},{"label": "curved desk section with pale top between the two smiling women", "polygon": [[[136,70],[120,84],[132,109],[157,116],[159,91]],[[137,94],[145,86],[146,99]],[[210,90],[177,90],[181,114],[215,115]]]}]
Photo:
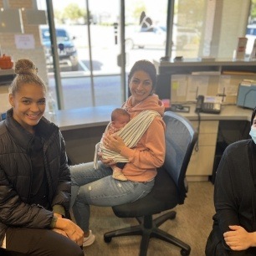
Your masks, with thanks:
[{"label": "curved desk section with pale top between the two smiling women", "polygon": [[[116,105],[57,110],[56,115],[45,114],[59,126],[64,136],[69,160],[72,164],[93,161],[95,144],[105,131]],[[120,106],[119,106],[120,107]]]}]

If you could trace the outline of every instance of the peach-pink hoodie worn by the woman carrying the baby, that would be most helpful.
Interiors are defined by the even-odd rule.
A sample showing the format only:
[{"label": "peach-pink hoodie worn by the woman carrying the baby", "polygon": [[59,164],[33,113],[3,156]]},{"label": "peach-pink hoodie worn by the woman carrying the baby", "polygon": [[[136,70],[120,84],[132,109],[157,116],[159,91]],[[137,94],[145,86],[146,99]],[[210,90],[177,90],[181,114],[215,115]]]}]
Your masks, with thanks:
[{"label": "peach-pink hoodie worn by the woman carrying the baby", "polygon": [[[122,106],[127,110],[131,119],[143,110],[155,110],[161,116],[164,105],[158,95],[148,96],[134,107],[131,106],[131,97]],[[156,176],[156,167],[162,166],[165,154],[165,123],[161,117],[156,116],[145,134],[134,148],[125,147],[120,154],[129,159],[122,170],[125,177],[134,182],[147,182]]]}]

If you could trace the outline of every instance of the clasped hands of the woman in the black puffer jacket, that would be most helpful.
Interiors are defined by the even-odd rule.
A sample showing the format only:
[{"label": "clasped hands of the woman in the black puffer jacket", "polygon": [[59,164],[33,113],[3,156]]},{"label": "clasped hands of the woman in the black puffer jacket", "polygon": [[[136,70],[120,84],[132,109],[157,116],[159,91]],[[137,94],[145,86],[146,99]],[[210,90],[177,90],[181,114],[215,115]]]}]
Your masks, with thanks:
[{"label": "clasped hands of the woman in the black puffer jacket", "polygon": [[67,218],[58,218],[54,229],[61,230],[62,234],[66,233],[67,237],[69,237],[72,241],[74,241],[74,243],[77,243],[79,246],[83,244],[84,232],[71,220]]}]

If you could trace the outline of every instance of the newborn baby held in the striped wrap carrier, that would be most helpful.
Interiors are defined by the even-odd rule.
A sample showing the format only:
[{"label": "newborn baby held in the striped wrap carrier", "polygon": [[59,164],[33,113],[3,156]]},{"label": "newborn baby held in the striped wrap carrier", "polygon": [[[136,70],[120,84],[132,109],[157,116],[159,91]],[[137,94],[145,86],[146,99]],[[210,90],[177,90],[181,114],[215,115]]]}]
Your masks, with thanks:
[{"label": "newborn baby held in the striped wrap carrier", "polygon": [[[108,127],[108,130],[105,131],[105,134],[114,135],[115,132],[120,131],[128,122],[130,121],[130,114],[124,110],[117,108],[111,113],[111,122]],[[127,178],[122,173],[122,169],[125,167],[125,162],[117,162],[115,166],[111,166],[113,170],[112,177],[116,180],[127,181]]]}]

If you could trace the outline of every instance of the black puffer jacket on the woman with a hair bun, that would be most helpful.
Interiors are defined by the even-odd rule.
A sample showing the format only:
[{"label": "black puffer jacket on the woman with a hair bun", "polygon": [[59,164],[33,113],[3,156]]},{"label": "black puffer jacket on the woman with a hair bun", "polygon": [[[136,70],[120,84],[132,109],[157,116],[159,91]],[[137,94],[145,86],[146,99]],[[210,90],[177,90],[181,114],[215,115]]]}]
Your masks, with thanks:
[{"label": "black puffer jacket on the woman with a hair bun", "polygon": [[[6,120],[0,121],[0,246],[8,227],[51,228],[54,206],[64,207],[69,218],[71,181],[63,136],[58,126],[44,116],[36,128],[43,145],[39,156],[43,158],[41,163],[44,162],[44,167],[40,164],[37,168],[46,173],[44,176],[43,172],[43,177],[48,184],[48,208],[28,203],[32,200],[31,193],[41,195],[44,184],[44,178],[40,182],[40,177],[38,180],[33,177],[33,172],[38,173],[34,167],[38,159],[32,160],[31,156],[35,135],[13,120],[12,109],[8,110]],[[35,186],[41,188],[35,192]]]}]

